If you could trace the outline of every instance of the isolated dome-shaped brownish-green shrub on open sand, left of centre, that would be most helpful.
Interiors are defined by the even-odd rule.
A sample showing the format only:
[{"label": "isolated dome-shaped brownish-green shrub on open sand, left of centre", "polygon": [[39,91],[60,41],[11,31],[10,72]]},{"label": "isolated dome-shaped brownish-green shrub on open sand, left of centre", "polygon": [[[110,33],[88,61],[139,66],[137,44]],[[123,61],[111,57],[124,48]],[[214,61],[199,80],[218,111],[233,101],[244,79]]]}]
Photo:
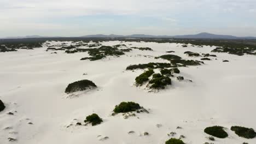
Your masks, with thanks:
[{"label": "isolated dome-shaped brownish-green shrub on open sand, left of centre", "polygon": [[65,93],[73,93],[78,91],[85,91],[86,89],[97,87],[94,82],[89,80],[80,80],[73,83],[69,83]]}]

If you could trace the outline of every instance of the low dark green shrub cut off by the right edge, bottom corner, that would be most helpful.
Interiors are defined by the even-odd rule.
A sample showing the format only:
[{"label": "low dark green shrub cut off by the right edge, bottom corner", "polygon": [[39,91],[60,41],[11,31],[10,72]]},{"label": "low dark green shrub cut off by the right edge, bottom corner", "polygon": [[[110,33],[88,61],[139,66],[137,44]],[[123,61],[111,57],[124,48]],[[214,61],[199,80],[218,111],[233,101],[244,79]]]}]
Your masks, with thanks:
[{"label": "low dark green shrub cut off by the right edge, bottom corner", "polygon": [[246,139],[253,139],[256,136],[256,133],[252,128],[233,126],[231,127],[231,130],[235,131],[238,136],[245,137]]}]

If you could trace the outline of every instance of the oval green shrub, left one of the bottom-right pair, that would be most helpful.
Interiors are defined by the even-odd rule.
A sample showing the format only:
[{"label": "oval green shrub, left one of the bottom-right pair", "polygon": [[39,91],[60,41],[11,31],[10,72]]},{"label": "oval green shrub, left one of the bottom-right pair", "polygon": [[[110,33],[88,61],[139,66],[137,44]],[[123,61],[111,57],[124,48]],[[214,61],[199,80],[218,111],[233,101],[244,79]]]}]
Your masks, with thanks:
[{"label": "oval green shrub, left one of the bottom-right pair", "polygon": [[220,139],[228,137],[228,133],[226,133],[226,131],[223,130],[223,127],[220,126],[207,127],[204,131],[206,134],[218,137]]}]

